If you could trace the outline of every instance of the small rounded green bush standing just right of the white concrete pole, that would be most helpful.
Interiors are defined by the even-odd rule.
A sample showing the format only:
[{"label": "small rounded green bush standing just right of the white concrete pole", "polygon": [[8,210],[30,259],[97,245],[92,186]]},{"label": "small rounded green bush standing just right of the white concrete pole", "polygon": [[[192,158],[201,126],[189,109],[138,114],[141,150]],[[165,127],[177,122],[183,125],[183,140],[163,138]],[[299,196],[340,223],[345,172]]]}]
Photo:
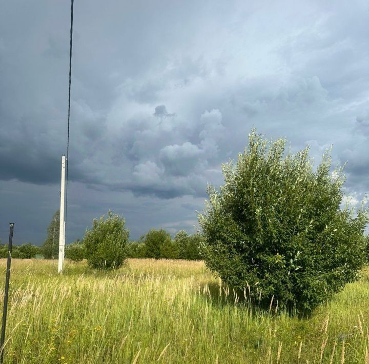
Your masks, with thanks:
[{"label": "small rounded green bush standing just right of the white concrete pole", "polygon": [[129,230],[125,220],[108,211],[108,216],[94,219],[91,230],[86,230],[83,242],[86,259],[93,268],[112,269],[120,267],[126,258],[126,244]]}]

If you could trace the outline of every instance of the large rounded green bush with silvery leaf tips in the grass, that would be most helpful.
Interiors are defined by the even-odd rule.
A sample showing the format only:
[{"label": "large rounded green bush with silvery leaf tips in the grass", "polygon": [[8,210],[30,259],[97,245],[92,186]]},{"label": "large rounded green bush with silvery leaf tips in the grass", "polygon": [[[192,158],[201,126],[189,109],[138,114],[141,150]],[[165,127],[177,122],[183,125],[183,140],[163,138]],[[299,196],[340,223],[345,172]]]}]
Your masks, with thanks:
[{"label": "large rounded green bush with silvery leaf tips in the grass", "polygon": [[220,190],[208,188],[203,257],[234,288],[311,310],[357,278],[367,210],[340,209],[344,176],[330,173],[329,152],[314,171],[309,148],[285,154],[285,139],[255,130],[249,139],[237,164],[223,165]]}]

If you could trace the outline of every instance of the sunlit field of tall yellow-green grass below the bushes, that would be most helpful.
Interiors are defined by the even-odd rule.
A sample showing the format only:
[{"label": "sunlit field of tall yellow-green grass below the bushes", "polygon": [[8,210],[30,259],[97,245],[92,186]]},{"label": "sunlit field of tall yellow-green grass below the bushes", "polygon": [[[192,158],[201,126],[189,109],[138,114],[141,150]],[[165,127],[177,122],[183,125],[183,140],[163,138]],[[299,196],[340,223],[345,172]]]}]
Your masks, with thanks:
[{"label": "sunlit field of tall yellow-green grass below the bushes", "polygon": [[298,318],[250,307],[201,261],[56,265],[13,259],[5,363],[369,363],[368,270]]}]

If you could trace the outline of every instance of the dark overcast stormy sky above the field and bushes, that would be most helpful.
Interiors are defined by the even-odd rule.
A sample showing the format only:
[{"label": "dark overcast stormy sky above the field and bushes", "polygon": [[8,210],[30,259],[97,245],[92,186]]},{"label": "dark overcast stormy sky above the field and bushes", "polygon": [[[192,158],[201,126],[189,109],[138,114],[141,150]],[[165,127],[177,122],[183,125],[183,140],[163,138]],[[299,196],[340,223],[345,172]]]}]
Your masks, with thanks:
[{"label": "dark overcast stormy sky above the field and bushes", "polygon": [[[69,1],[0,0],[0,238],[42,244],[66,153]],[[112,209],[131,238],[194,231],[253,126],[369,191],[367,1],[76,0],[67,242]]]}]

